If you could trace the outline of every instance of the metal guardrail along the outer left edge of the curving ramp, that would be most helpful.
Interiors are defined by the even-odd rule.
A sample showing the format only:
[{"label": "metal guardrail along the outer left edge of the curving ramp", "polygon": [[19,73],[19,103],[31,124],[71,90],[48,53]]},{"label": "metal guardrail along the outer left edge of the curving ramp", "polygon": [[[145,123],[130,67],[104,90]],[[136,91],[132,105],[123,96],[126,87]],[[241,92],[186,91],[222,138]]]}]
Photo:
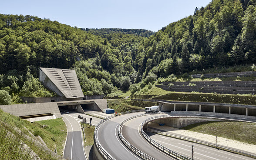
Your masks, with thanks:
[{"label": "metal guardrail along the outer left edge of the curving ramp", "polygon": [[[97,126],[95,127],[95,131],[98,129],[98,127],[104,123],[105,121],[111,119],[111,118],[114,118],[114,117],[117,117],[117,116],[121,116],[123,114],[129,114],[129,113],[136,113],[136,112],[142,112],[144,110],[132,110],[132,111],[128,111],[128,112],[122,112],[122,113],[117,113],[117,114],[114,114],[112,116],[108,116],[106,118],[104,118],[103,120],[101,120]],[[94,131],[94,144],[96,145],[96,148],[98,149],[98,151],[101,153],[101,155],[106,159],[106,160],[115,160],[113,157],[111,157],[111,155],[106,151],[104,150],[104,148],[101,146],[101,144],[98,142],[96,136],[95,136],[95,131]]]}]

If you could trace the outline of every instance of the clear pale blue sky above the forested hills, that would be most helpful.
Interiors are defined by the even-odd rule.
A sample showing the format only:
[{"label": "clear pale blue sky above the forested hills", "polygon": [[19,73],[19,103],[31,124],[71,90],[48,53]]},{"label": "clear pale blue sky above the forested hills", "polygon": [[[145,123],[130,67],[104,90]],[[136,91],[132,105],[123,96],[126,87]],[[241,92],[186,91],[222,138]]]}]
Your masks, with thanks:
[{"label": "clear pale blue sky above the forested hills", "polygon": [[78,28],[157,31],[212,0],[2,0],[1,14],[33,15]]}]

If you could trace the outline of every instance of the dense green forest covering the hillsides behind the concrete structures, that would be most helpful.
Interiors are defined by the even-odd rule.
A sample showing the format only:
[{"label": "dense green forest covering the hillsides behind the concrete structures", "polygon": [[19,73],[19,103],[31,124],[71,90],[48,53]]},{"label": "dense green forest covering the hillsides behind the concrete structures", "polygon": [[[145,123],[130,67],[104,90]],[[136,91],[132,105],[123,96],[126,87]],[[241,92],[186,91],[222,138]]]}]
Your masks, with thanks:
[{"label": "dense green forest covering the hillsides behind the concrete structures", "polygon": [[53,96],[38,80],[39,67],[75,69],[84,94],[92,95],[126,91],[132,83],[142,89],[170,74],[255,63],[256,0],[212,0],[151,34],[0,14],[0,89],[13,103],[18,96]]}]

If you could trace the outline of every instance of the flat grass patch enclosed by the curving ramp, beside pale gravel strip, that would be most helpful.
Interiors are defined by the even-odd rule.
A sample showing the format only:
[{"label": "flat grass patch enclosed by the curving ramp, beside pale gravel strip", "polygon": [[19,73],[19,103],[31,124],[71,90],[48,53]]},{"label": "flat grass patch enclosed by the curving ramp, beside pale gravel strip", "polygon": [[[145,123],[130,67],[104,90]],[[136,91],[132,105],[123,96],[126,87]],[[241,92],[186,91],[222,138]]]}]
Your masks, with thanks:
[{"label": "flat grass patch enclosed by the curving ramp, beside pale gravel strip", "polygon": [[256,145],[256,123],[212,121],[181,128]]}]

